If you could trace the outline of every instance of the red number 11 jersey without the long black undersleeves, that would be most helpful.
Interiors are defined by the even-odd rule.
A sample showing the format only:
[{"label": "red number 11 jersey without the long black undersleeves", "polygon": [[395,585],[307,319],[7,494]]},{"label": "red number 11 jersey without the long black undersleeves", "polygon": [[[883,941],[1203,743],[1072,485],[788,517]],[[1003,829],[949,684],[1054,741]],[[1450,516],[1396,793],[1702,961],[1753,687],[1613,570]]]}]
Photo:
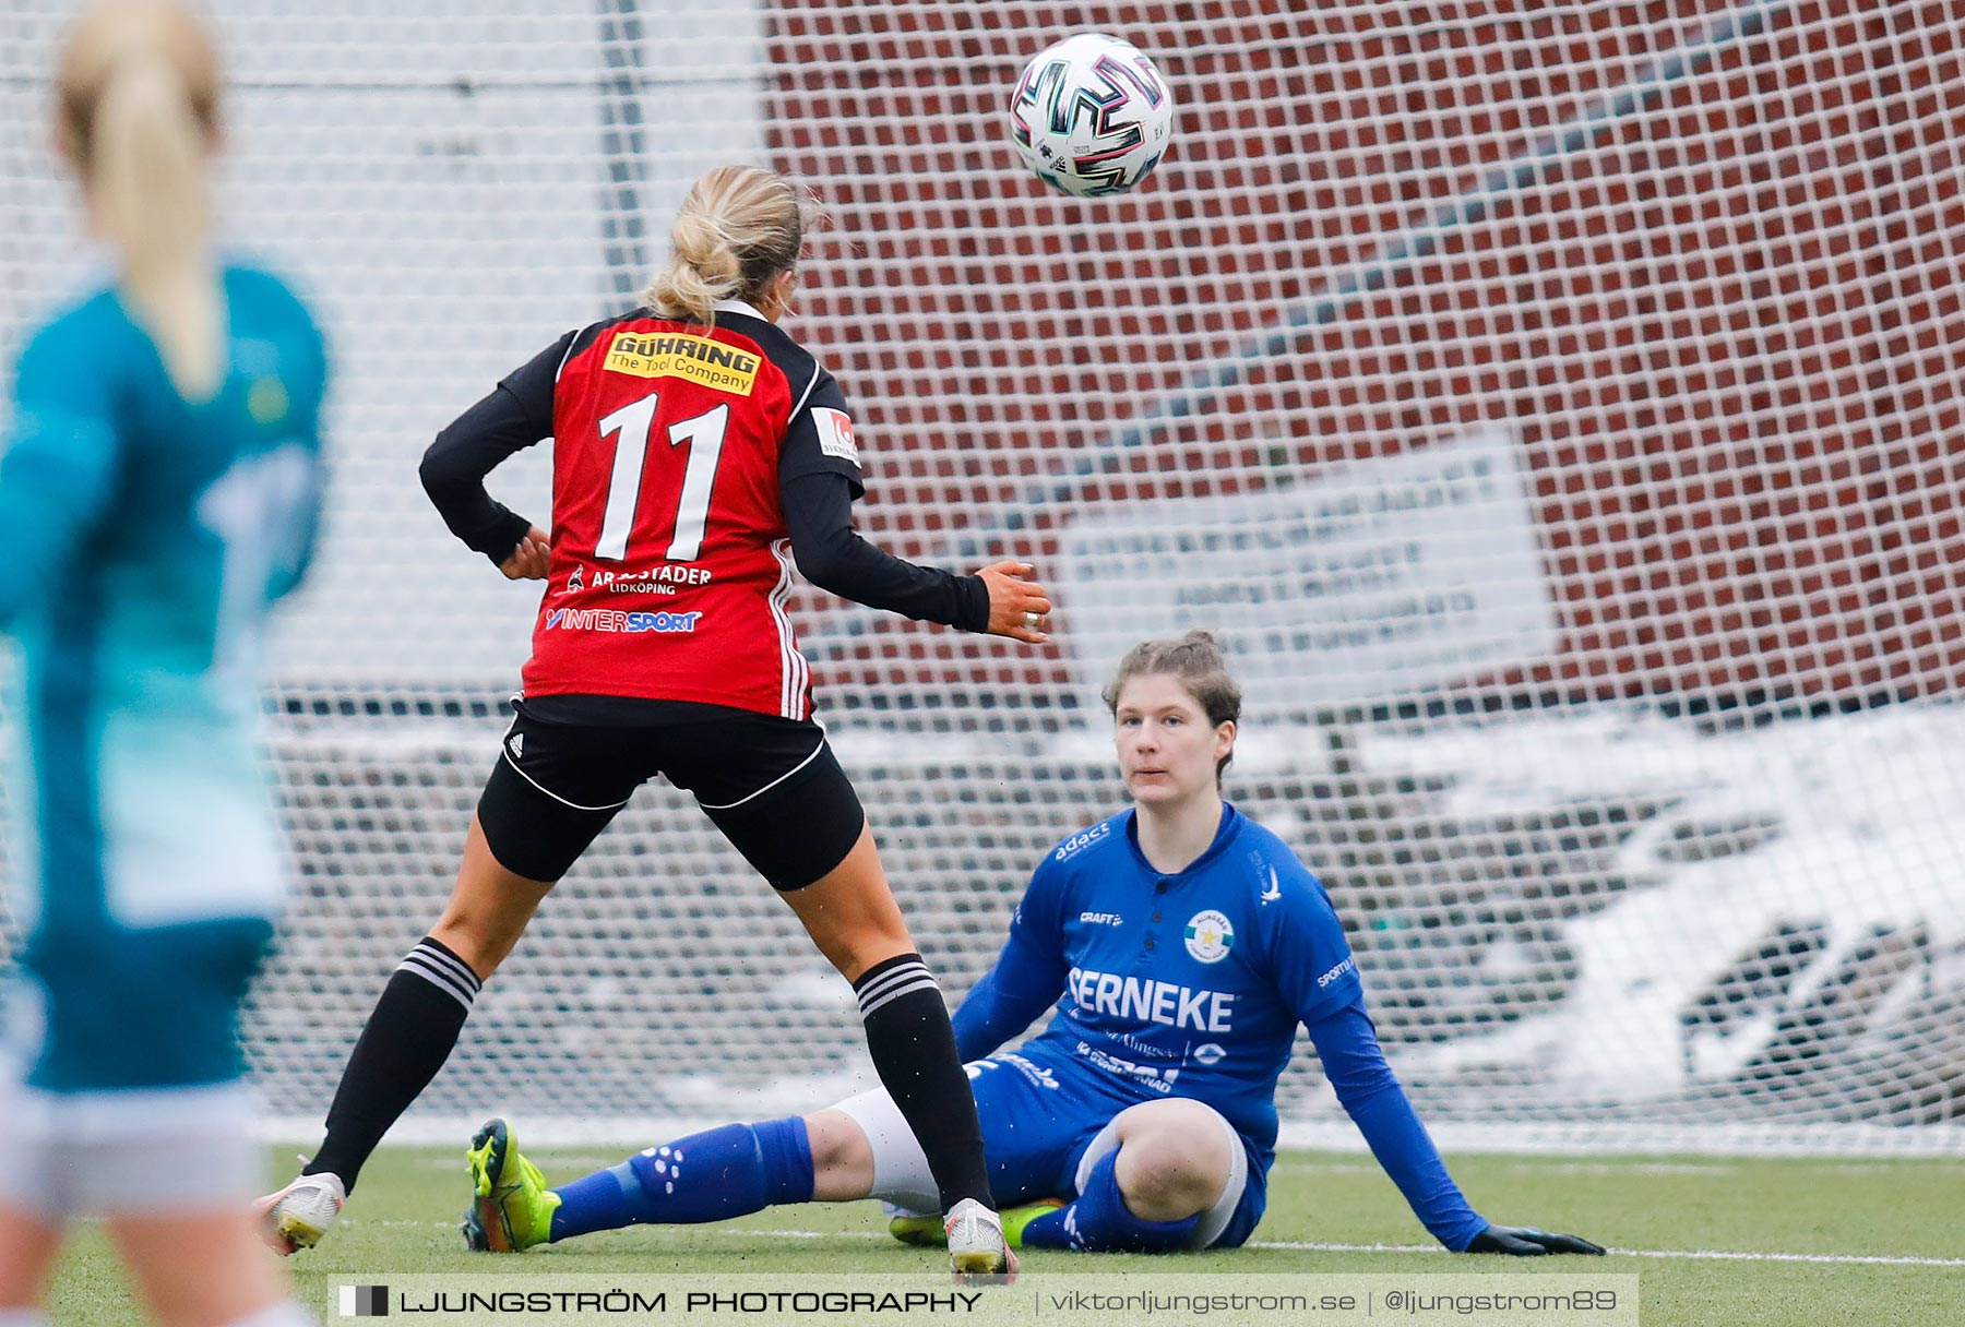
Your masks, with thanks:
[{"label": "red number 11 jersey without the long black undersleeves", "polygon": [[772,324],[637,312],[574,336],[552,383],[552,573],[525,693],[806,718],[782,461],[861,483],[839,387]]}]

